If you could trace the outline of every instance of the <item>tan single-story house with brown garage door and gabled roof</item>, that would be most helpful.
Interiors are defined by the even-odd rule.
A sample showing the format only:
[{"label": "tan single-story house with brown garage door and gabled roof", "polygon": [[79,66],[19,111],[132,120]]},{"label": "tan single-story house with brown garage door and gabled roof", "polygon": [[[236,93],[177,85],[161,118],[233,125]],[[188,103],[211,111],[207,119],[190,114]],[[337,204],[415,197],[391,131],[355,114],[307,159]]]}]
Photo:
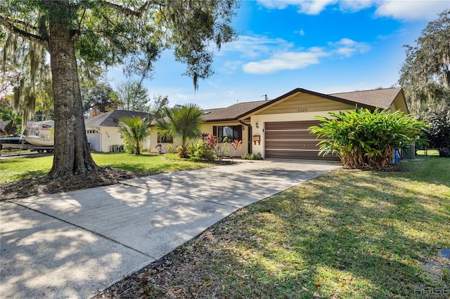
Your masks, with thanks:
[{"label": "tan single-story house with brown garage door and gabled roof", "polygon": [[[285,159],[337,159],[335,156],[319,157],[316,135],[308,128],[319,123],[317,115],[328,117],[328,112],[345,112],[355,107],[368,109],[390,108],[409,113],[401,88],[375,89],[326,95],[296,88],[274,100],[241,102],[226,108],[205,109],[202,132],[231,136],[242,140],[243,147],[236,157],[244,153],[262,154],[264,158]],[[167,143],[158,140],[152,128],[151,146],[161,145],[167,151]],[[175,140],[176,141],[176,140]],[[174,144],[176,146],[177,144]]]}]

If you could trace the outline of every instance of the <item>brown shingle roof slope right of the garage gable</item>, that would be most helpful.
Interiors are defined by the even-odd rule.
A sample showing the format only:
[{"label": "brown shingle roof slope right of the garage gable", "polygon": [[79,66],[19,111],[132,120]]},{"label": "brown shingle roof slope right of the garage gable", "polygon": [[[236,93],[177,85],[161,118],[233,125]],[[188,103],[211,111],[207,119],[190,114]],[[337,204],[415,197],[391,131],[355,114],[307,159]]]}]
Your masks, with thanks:
[{"label": "brown shingle roof slope right of the garage gable", "polygon": [[371,91],[353,91],[350,93],[332,93],[333,97],[342,98],[354,103],[380,107],[385,109],[392,105],[394,99],[401,92],[401,88],[373,89]]}]

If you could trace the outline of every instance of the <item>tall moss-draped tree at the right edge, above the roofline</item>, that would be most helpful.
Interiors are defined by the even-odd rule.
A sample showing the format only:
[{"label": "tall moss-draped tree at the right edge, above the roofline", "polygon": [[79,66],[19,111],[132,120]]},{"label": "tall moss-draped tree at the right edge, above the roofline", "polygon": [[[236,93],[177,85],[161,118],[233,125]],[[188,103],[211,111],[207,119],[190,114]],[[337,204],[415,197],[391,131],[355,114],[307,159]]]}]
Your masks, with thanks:
[{"label": "tall moss-draped tree at the right edge, above the roofline", "polygon": [[406,45],[399,84],[417,117],[450,107],[450,9],[428,23],[416,40]]}]

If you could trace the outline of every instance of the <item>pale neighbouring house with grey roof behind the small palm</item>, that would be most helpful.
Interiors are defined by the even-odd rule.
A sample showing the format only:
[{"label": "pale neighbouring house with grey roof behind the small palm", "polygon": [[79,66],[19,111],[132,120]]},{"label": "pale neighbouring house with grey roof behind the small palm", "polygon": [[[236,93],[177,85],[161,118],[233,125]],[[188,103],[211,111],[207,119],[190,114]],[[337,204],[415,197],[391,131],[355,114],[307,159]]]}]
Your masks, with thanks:
[{"label": "pale neighbouring house with grey roof behind the small palm", "polygon": [[[84,119],[89,147],[95,152],[114,152],[123,145],[123,135],[119,132],[118,123],[124,117],[141,117],[153,119],[153,114],[125,110],[113,110],[96,117]],[[150,149],[150,140],[144,150]]]}]

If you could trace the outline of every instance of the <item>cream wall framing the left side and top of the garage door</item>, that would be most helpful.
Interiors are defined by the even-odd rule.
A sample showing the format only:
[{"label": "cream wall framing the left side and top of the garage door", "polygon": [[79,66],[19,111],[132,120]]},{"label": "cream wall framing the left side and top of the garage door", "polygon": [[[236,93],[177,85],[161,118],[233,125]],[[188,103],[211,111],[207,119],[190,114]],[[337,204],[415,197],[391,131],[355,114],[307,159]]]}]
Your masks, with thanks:
[{"label": "cream wall framing the left side and top of the garage door", "polygon": [[[345,112],[347,110],[342,110]],[[316,116],[321,117],[330,117],[328,112],[331,111],[323,111],[323,112],[298,112],[298,113],[284,113],[284,114],[262,114],[262,115],[253,115],[250,117],[250,124],[252,125],[252,135],[261,136],[261,144],[258,142],[252,142],[252,153],[257,154],[258,152],[262,154],[264,158],[264,124],[266,122],[274,122],[274,121],[314,121],[316,120]],[[339,111],[334,111],[339,112]],[[258,127],[256,126],[258,124]]]}]

